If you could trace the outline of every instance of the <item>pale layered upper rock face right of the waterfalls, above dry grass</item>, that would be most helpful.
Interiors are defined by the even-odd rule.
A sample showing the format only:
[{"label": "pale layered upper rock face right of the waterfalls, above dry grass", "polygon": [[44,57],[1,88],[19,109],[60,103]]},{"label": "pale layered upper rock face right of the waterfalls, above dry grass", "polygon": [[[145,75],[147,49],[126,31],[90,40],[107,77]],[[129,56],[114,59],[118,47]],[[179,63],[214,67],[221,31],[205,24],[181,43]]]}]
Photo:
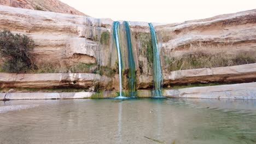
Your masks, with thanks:
[{"label": "pale layered upper rock face right of the waterfalls, above dry grass", "polygon": [[[232,52],[232,50],[255,48],[255,18],[256,9],[202,20],[157,25],[155,29],[162,34],[162,45],[168,52],[189,51],[190,44],[199,42],[216,45],[210,51],[221,51],[223,48],[228,48]],[[232,46],[227,47],[226,45],[229,44]],[[239,47],[237,47],[238,45]],[[187,50],[184,50],[184,46],[187,46]]]}]

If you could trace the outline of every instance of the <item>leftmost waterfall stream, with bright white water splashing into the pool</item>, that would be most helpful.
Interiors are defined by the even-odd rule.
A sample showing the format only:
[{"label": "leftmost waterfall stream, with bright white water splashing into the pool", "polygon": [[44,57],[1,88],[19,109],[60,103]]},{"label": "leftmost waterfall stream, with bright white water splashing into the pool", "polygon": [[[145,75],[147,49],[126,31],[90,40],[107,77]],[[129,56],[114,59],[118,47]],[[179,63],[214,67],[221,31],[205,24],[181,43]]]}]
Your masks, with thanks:
[{"label": "leftmost waterfall stream, with bright white water splashing into the pool", "polygon": [[120,50],[120,43],[119,43],[119,37],[118,37],[118,28],[119,28],[119,22],[114,21],[113,25],[113,36],[115,39],[115,46],[117,47],[118,52],[118,68],[119,68],[119,89],[120,89],[120,95],[119,99],[126,98],[122,96],[122,59],[121,59],[121,50]]}]

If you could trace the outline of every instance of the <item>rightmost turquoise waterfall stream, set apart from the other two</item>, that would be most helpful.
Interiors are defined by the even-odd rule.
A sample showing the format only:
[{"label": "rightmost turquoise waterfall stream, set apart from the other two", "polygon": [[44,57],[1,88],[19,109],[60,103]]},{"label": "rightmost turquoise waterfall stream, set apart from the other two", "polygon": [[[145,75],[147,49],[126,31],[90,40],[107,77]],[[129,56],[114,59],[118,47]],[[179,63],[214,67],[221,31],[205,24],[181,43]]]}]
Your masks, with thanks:
[{"label": "rightmost turquoise waterfall stream, set apart from the other two", "polygon": [[154,77],[154,97],[162,97],[162,70],[160,63],[160,55],[158,50],[158,42],[156,39],[155,29],[152,23],[148,23],[153,47],[153,77]]}]

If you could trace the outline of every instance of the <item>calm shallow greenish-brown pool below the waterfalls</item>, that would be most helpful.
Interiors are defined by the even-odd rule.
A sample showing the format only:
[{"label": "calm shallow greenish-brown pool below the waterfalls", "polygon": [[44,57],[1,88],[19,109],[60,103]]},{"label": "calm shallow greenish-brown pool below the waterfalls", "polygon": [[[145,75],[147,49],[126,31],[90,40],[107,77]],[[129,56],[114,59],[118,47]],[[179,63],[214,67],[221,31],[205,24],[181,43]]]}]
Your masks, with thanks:
[{"label": "calm shallow greenish-brown pool below the waterfalls", "polygon": [[256,101],[1,101],[0,143],[256,143]]}]

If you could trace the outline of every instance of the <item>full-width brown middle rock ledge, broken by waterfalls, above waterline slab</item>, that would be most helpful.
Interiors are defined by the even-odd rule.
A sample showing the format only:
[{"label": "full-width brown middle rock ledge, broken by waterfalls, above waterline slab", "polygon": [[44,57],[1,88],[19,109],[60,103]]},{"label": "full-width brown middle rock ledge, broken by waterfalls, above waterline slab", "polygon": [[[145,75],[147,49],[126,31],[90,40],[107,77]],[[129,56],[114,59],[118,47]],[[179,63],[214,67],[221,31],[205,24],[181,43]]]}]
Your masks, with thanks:
[{"label": "full-width brown middle rock ledge, broken by waterfalls, above waterline slab", "polygon": [[[139,79],[139,87],[152,84],[147,77]],[[117,77],[107,77],[98,74],[86,73],[50,73],[50,74],[9,74],[0,73],[0,87],[2,88],[56,88],[76,87],[91,88],[100,85],[109,86]],[[256,63],[236,65],[232,67],[204,68],[172,71],[170,75],[164,74],[164,85],[179,85],[186,83],[208,82],[254,82],[256,81]],[[117,88],[115,88],[117,89]]]}]

